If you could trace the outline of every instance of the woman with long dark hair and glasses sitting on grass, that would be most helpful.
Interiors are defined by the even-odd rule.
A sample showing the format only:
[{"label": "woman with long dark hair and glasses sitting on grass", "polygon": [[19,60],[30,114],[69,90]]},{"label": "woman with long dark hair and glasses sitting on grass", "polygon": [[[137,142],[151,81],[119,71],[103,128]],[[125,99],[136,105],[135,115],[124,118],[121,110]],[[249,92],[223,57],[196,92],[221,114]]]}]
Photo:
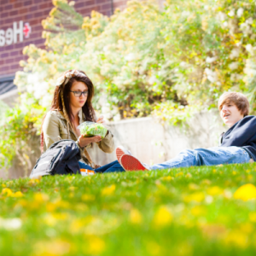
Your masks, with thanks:
[{"label": "woman with long dark hair and glasses sitting on grass", "polygon": [[41,150],[43,152],[61,139],[72,139],[80,148],[82,160],[79,161],[79,166],[81,169],[96,172],[124,172],[117,160],[106,166],[96,166],[86,150],[93,143],[96,143],[106,153],[112,153],[114,148],[113,135],[110,131],[104,138],[84,137],[80,134],[78,126],[85,120],[105,122],[102,117],[96,119],[91,105],[93,95],[94,86],[82,71],[68,70],[57,79],[51,108],[45,115],[41,128]]}]

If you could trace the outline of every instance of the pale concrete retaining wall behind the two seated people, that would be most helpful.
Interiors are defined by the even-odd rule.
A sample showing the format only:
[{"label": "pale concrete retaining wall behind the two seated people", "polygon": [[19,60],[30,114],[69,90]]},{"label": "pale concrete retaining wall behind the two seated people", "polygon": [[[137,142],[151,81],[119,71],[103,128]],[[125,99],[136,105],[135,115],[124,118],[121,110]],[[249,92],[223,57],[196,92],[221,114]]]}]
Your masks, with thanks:
[{"label": "pale concrete retaining wall behind the two seated people", "polygon": [[[138,159],[148,164],[169,160],[185,148],[218,146],[218,136],[226,130],[216,113],[198,113],[182,127],[161,124],[160,120],[149,117],[113,122],[109,127],[113,132],[116,146],[123,145]],[[35,137],[31,144],[30,165],[34,166],[40,155],[39,137]],[[91,159],[101,166],[116,160],[114,152],[103,153],[96,145],[88,151]],[[30,171],[27,175],[29,174]],[[0,171],[0,177],[3,178],[24,176],[26,172],[20,166],[18,158],[9,172]]]}]

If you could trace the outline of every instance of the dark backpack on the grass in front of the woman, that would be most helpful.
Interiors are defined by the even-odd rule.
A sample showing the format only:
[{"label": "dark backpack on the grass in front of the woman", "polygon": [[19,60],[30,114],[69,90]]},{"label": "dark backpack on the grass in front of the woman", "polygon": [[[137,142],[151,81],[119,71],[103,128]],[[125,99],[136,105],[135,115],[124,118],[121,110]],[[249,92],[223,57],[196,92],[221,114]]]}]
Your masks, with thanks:
[{"label": "dark backpack on the grass in front of the woman", "polygon": [[38,159],[30,177],[80,173],[81,159],[78,145],[73,140],[53,143]]}]

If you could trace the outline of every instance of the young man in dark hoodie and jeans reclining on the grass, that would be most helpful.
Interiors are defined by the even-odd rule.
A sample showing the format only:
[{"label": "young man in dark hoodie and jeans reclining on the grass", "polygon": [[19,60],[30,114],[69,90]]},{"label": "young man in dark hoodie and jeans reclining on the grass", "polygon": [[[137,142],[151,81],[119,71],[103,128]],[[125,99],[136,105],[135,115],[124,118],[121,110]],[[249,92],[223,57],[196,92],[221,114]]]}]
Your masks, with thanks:
[{"label": "young man in dark hoodie and jeans reclining on the grass", "polygon": [[172,160],[148,166],[123,147],[116,148],[125,171],[160,170],[188,166],[215,166],[256,161],[256,117],[248,115],[249,102],[239,92],[225,92],[218,100],[218,110],[230,128],[221,138],[220,147],[186,149]]}]

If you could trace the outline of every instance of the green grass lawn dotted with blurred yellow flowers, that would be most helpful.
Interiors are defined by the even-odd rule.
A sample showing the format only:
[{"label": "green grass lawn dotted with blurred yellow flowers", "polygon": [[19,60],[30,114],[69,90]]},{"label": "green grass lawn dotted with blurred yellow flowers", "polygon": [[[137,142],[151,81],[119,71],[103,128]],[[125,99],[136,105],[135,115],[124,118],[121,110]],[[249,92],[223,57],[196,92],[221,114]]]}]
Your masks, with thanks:
[{"label": "green grass lawn dotted with blurred yellow flowers", "polygon": [[256,164],[0,179],[0,255],[255,255]]}]

